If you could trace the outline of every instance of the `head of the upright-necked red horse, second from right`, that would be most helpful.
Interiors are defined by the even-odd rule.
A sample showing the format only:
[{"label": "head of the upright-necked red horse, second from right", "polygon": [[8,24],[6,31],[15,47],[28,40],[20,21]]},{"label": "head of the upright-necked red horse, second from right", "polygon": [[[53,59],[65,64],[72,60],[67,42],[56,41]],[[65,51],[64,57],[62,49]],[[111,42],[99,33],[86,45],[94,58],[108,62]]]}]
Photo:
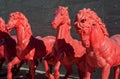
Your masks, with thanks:
[{"label": "head of the upright-necked red horse, second from right", "polygon": [[70,24],[68,7],[59,6],[55,11],[55,17],[52,21],[52,28],[56,29],[58,26],[64,24],[65,22]]}]

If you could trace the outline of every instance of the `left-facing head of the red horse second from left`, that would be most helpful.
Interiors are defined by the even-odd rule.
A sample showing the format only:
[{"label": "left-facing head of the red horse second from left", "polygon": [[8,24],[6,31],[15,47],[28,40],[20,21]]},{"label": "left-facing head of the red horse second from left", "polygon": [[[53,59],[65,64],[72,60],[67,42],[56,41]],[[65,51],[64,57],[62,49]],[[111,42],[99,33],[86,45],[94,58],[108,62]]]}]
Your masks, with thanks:
[{"label": "left-facing head of the red horse second from left", "polygon": [[28,19],[21,12],[12,12],[9,15],[7,30],[12,28],[25,27],[28,24]]}]

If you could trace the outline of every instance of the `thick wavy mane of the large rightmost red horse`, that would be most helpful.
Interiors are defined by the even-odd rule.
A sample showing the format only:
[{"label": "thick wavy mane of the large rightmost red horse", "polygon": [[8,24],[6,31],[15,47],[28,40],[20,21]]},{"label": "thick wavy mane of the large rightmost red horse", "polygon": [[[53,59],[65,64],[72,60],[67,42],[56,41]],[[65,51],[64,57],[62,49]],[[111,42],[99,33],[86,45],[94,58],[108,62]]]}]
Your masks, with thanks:
[{"label": "thick wavy mane of the large rightmost red horse", "polygon": [[87,19],[89,19],[88,21],[91,21],[92,23],[94,22],[94,24],[97,23],[100,26],[104,35],[109,36],[107,29],[105,27],[105,24],[102,22],[101,18],[99,18],[99,16],[94,11],[92,11],[90,8],[88,9],[84,8],[83,10],[79,10],[79,14],[80,16],[82,17],[84,16]]}]

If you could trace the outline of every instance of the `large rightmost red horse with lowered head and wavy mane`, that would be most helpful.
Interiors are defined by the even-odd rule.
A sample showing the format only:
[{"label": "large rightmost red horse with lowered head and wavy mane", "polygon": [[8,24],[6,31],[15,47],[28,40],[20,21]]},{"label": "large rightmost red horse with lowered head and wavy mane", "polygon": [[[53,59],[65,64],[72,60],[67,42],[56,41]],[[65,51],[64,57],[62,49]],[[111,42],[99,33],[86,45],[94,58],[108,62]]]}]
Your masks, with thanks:
[{"label": "large rightmost red horse with lowered head and wavy mane", "polygon": [[97,14],[90,9],[80,10],[74,22],[78,34],[82,38],[83,45],[87,48],[86,62],[86,77],[90,79],[90,75],[94,68],[99,68],[101,71],[102,79],[108,79],[110,68],[115,68],[115,77],[118,79],[120,65],[120,44],[118,37],[109,38],[107,29],[102,20]]}]

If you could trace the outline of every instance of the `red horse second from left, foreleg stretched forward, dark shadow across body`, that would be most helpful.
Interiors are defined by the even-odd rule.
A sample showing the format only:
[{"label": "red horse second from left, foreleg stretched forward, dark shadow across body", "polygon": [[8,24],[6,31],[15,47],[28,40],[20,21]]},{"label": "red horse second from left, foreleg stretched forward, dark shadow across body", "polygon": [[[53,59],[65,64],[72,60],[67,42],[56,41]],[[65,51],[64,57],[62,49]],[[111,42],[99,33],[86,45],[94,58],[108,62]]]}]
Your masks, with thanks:
[{"label": "red horse second from left, foreleg stretched forward, dark shadow across body", "polygon": [[12,79],[12,67],[23,59],[30,62],[29,77],[34,79],[35,69],[38,65],[37,60],[42,60],[43,57],[52,53],[55,37],[33,37],[28,19],[21,12],[10,14],[7,30],[9,31],[13,28],[16,29],[18,55],[8,64],[7,79]]}]

